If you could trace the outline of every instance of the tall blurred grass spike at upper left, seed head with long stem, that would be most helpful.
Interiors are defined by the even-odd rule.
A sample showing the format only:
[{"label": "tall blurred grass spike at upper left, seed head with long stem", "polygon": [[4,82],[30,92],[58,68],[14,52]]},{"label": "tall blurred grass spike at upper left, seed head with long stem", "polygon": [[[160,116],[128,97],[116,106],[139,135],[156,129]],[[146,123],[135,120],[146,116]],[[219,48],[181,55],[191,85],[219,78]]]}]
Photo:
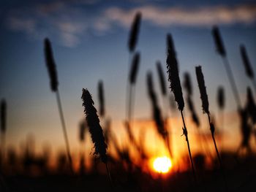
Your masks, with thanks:
[{"label": "tall blurred grass spike at upper left, seed head with long stem", "polygon": [[70,170],[73,173],[72,157],[71,157],[70,147],[69,147],[69,139],[68,139],[68,135],[67,135],[67,128],[66,128],[66,123],[65,123],[65,119],[64,119],[64,113],[63,113],[62,105],[61,105],[61,96],[60,96],[59,89],[58,89],[59,82],[58,82],[56,64],[55,64],[55,61],[53,58],[53,50],[50,45],[50,40],[48,38],[45,39],[45,62],[46,62],[48,74],[50,77],[50,88],[53,92],[56,93],[56,100],[57,100],[57,104],[58,104],[59,115],[61,118],[62,131],[64,134],[64,140],[66,143],[67,158],[69,160]]}]

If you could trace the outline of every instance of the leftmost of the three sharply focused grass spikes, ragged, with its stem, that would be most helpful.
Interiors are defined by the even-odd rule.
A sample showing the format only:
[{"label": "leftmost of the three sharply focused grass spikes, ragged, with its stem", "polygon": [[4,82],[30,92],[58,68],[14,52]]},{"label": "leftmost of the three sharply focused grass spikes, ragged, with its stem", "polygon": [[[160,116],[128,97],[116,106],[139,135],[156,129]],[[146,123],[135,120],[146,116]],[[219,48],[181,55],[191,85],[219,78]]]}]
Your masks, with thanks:
[{"label": "leftmost of the three sharply focused grass spikes, ragged, with its stem", "polygon": [[97,110],[94,107],[94,101],[91,98],[91,93],[89,93],[87,89],[83,88],[82,92],[81,99],[83,100],[83,107],[86,114],[86,122],[91,134],[91,140],[94,144],[94,155],[99,155],[102,163],[105,164],[110,182],[113,184],[108,168],[108,145],[105,143],[105,137],[103,135],[102,127],[99,124],[99,117],[97,115]]}]

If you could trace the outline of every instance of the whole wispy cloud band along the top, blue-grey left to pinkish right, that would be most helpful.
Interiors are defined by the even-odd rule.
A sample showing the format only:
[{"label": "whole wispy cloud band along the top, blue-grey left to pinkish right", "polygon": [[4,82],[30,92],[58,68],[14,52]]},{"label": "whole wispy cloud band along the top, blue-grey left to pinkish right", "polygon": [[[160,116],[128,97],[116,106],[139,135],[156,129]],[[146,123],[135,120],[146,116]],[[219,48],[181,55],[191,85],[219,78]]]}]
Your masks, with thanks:
[{"label": "whole wispy cloud band along the top, blue-grey left to pinkish right", "polygon": [[[62,45],[75,47],[90,32],[105,34],[116,26],[129,28],[135,12],[142,12],[143,22],[152,26],[208,27],[214,24],[248,24],[256,21],[256,4],[233,7],[156,7],[141,6],[131,9],[121,7],[98,8],[97,14],[83,8],[99,0],[53,1],[36,4],[28,9],[16,9],[7,19],[13,31],[23,31],[35,37],[56,37]],[[97,7],[97,6],[96,6]]]}]

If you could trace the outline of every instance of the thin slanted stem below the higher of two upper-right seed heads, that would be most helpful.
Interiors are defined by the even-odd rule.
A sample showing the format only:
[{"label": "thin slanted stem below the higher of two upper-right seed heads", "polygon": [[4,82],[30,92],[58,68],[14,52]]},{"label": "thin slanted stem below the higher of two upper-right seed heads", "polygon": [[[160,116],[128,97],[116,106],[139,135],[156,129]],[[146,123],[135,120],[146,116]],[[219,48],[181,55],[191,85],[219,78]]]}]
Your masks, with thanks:
[{"label": "thin slanted stem below the higher of two upper-right seed heads", "polygon": [[238,107],[241,108],[241,99],[238,94],[238,88],[236,86],[235,78],[233,77],[233,73],[231,71],[230,63],[227,59],[227,57],[222,57],[226,72],[227,72],[227,77],[230,80],[230,85],[233,91],[233,95],[235,96],[236,103],[238,104]]}]

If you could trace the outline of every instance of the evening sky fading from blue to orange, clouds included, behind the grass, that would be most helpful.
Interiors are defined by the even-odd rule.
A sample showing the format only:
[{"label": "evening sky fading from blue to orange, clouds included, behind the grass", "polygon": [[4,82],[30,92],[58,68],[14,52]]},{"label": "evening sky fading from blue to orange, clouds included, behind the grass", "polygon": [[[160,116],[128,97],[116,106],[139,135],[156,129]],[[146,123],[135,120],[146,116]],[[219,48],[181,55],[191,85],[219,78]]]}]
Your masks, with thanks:
[{"label": "evening sky fading from blue to orange, clouds included, behind the grass", "polygon": [[[45,66],[45,37],[53,47],[71,147],[79,145],[78,125],[84,118],[82,88],[89,89],[98,107],[99,80],[104,82],[107,116],[120,135],[129,67],[127,39],[138,11],[142,12],[142,22],[136,50],[141,59],[135,119],[151,118],[146,72],[153,72],[160,93],[155,63],[161,61],[165,69],[167,33],[173,35],[181,82],[184,72],[192,76],[198,113],[201,114],[201,104],[195,77],[197,65],[203,67],[212,114],[217,112],[219,85],[225,87],[225,114],[234,114],[237,109],[214,47],[212,26],[218,25],[221,31],[243,104],[246,87],[252,85],[242,65],[239,45],[246,46],[256,70],[255,1],[17,0],[1,1],[0,5],[0,99],[7,100],[7,145],[19,146],[27,134],[33,134],[39,146],[46,142],[56,149],[64,147],[56,98],[50,91]],[[185,114],[189,118],[189,112]],[[178,112],[172,115],[178,116]],[[238,133],[238,118],[235,121],[233,130]],[[177,130],[181,135],[180,126]]]}]

